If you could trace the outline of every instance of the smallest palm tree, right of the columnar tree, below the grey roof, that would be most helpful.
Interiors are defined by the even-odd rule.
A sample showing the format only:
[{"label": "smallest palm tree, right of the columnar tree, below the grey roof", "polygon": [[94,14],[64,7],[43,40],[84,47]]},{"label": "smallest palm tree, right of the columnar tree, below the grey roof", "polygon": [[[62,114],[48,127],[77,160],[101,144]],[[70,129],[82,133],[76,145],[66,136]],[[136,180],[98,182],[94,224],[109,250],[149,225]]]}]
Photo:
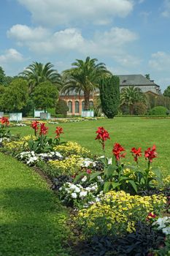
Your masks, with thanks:
[{"label": "smallest palm tree, right of the columnar tree, below the grey roof", "polygon": [[129,113],[134,113],[134,103],[146,102],[146,97],[141,89],[134,86],[125,87],[121,90],[120,105],[128,105]]}]

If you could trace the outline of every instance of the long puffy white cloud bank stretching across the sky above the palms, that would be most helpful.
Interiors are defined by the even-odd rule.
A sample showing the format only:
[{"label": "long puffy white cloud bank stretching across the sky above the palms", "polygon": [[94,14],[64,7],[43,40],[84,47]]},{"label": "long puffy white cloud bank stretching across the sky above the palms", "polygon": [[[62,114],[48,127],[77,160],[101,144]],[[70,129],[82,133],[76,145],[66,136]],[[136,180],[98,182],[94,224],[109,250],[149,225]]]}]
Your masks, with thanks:
[{"label": "long puffy white cloud bank stretching across the sky above the palms", "polygon": [[[15,39],[17,44],[28,47],[39,56],[74,52],[84,56],[109,57],[126,67],[139,65],[140,62],[138,58],[128,53],[127,46],[138,39],[138,35],[128,29],[112,27],[108,31],[96,32],[92,39],[86,39],[81,31],[75,28],[50,33],[47,29],[44,31],[15,25],[7,31],[7,34]],[[42,37],[43,34],[48,34],[48,37]]]}]

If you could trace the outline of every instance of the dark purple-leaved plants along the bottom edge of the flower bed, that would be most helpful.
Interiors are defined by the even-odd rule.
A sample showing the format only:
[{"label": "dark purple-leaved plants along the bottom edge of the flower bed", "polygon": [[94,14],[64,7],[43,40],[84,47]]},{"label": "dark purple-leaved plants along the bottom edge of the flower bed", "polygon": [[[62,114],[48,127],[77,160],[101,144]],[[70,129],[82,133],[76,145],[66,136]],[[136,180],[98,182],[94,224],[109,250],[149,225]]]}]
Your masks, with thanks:
[{"label": "dark purple-leaved plants along the bottom edge of the flower bed", "polygon": [[136,231],[120,236],[93,236],[78,244],[82,256],[149,255],[163,246],[165,236],[147,223],[138,222]]}]

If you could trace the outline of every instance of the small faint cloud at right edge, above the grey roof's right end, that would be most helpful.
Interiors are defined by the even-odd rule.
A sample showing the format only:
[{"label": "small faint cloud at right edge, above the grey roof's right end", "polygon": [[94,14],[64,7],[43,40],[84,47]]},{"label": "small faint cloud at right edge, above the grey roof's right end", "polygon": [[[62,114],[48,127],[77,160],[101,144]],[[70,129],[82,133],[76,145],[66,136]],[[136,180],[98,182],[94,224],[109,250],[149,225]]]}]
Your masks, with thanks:
[{"label": "small faint cloud at right edge, above the grey roof's right end", "polygon": [[170,54],[163,51],[152,53],[149,65],[157,71],[168,71],[170,67]]}]

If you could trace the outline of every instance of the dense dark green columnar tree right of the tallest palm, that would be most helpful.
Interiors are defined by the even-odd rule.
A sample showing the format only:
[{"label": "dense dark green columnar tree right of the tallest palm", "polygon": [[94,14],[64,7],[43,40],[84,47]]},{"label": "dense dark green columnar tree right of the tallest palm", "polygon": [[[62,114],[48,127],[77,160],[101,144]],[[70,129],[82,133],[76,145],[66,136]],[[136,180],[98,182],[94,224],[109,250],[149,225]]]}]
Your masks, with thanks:
[{"label": "dense dark green columnar tree right of the tallest palm", "polygon": [[112,75],[100,81],[100,98],[104,114],[108,118],[114,118],[120,104],[120,79]]}]

